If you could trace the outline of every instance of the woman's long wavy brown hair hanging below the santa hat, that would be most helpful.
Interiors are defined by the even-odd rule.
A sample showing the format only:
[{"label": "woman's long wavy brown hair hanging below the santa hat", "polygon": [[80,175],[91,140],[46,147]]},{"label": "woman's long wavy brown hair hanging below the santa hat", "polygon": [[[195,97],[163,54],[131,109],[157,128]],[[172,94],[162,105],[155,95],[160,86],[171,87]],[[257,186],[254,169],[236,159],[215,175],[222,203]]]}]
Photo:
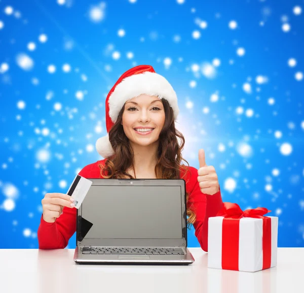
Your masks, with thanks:
[{"label": "woman's long wavy brown hair hanging below the santa hat", "polygon": [[[181,155],[184,147],[185,139],[183,135],[175,129],[174,113],[169,103],[165,99],[161,99],[165,110],[165,123],[159,136],[159,148],[157,153],[157,164],[155,166],[155,174],[158,179],[184,179],[187,172],[187,167],[181,165],[181,160],[187,162]],[[109,141],[114,150],[114,154],[107,157],[105,164],[99,164],[100,174],[103,178],[130,178],[135,179],[127,170],[134,168],[133,149],[129,144],[129,139],[124,132],[121,124],[125,105],[121,109],[116,123],[109,131]],[[180,145],[177,138],[180,139]],[[189,163],[187,162],[188,167]],[[180,168],[183,169],[184,175],[180,178]],[[107,174],[107,175],[106,175]],[[136,174],[135,174],[136,177]],[[186,181],[187,183],[187,181]],[[189,194],[186,192],[186,215],[187,226],[190,229],[190,224],[196,220],[196,214],[188,207]]]}]

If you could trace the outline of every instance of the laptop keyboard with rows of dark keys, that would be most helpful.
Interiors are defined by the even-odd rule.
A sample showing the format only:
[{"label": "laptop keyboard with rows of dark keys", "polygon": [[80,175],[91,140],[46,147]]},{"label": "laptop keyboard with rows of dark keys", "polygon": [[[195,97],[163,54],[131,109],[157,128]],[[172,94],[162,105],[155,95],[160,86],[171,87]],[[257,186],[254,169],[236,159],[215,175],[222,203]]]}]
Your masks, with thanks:
[{"label": "laptop keyboard with rows of dark keys", "polygon": [[182,248],[152,247],[84,247],[83,254],[184,254]]}]

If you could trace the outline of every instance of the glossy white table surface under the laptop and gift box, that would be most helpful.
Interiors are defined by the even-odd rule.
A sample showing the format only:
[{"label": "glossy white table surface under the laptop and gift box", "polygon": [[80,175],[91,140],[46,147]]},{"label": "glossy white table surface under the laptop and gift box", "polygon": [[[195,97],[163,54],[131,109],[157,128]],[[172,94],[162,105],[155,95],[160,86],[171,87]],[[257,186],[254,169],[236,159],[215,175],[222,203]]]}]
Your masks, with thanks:
[{"label": "glossy white table surface under the laptop and gift box", "polygon": [[303,292],[304,248],[278,248],[277,267],[254,273],[208,269],[201,248],[188,266],[79,265],[74,249],[0,249],[0,291],[270,293]]}]

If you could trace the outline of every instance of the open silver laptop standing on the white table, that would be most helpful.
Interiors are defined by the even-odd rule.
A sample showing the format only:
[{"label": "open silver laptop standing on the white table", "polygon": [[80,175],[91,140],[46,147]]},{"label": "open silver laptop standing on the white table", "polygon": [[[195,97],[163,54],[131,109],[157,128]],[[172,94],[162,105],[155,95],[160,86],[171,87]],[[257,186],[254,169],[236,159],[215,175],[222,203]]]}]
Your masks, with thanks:
[{"label": "open silver laptop standing on the white table", "polygon": [[77,210],[79,264],[189,265],[183,179],[90,179]]}]

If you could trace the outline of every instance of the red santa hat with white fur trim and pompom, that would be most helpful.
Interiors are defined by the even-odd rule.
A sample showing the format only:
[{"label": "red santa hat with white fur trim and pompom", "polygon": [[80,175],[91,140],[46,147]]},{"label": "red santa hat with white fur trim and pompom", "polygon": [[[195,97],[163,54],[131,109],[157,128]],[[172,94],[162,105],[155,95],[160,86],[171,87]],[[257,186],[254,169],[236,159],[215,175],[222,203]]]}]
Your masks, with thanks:
[{"label": "red santa hat with white fur trim and pompom", "polygon": [[141,94],[157,95],[159,99],[166,99],[173,109],[174,119],[177,118],[179,113],[177,96],[170,83],[149,65],[139,65],[131,68],[119,78],[105,100],[107,135],[99,138],[96,142],[96,149],[102,157],[105,158],[114,154],[108,133],[117,121],[124,104]]}]

